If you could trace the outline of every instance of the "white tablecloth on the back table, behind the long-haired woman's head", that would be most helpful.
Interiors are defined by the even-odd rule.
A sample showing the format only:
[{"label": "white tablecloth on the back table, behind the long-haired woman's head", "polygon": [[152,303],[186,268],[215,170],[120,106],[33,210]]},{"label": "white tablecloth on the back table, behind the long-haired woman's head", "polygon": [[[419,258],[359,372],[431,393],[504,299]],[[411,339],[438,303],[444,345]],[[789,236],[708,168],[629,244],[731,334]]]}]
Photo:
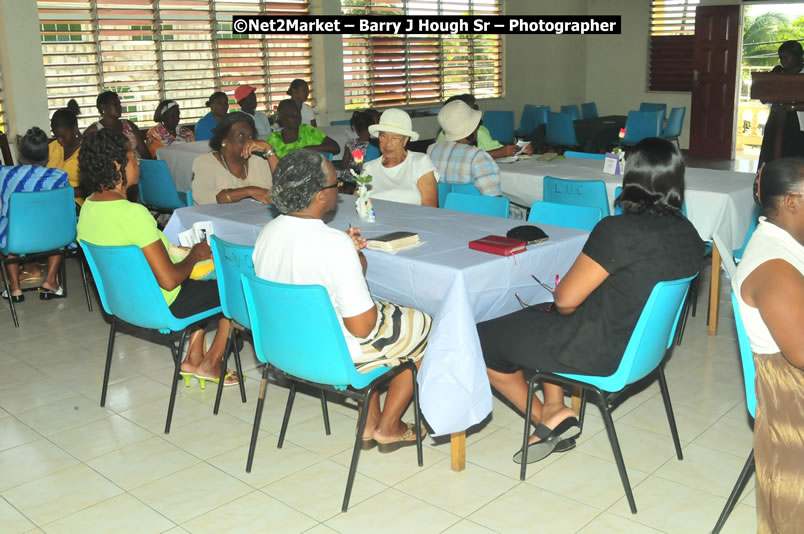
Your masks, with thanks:
[{"label": "white tablecloth on the back table, behind the long-haired woman's head", "polygon": [[[613,209],[614,189],[622,176],[603,172],[599,160],[561,159],[550,162],[535,159],[500,165],[501,188],[512,202],[530,206],[542,200],[545,175],[575,180],[603,180]],[[701,236],[710,241],[717,233],[729,250],[743,244],[754,210],[754,175],[743,172],[687,168],[685,175],[687,217]]]}]

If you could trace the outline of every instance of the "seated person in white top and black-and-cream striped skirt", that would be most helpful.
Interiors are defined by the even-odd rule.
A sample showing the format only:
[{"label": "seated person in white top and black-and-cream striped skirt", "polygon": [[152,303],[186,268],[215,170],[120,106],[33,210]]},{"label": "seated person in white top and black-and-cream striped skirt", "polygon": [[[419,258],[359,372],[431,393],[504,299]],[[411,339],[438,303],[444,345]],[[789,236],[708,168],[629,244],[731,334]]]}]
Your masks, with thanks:
[{"label": "seated person in white top and black-and-cream striped skirt", "polygon": [[[322,220],[335,209],[337,187],[332,164],[318,152],[294,150],[279,160],[271,198],[282,215],[260,232],[254,271],[273,282],[324,286],[359,372],[403,361],[419,365],[432,319],[418,310],[372,300],[360,230],[342,232]],[[372,395],[364,449],[376,443],[380,452],[391,452],[416,443],[416,433],[424,429],[401,419],[412,395],[410,371],[391,379],[382,409],[379,393]]]}]

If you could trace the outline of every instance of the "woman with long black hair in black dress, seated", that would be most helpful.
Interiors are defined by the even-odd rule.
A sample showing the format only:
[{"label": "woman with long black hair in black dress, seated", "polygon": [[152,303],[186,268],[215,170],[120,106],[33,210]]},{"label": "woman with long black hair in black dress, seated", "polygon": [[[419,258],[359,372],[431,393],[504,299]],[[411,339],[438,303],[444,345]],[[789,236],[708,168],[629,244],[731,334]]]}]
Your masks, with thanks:
[{"label": "woman with long black hair in black dress, seated", "polygon": [[[608,376],[620,364],[653,286],[694,275],[704,244],[681,214],[684,161],[663,139],[641,141],[628,158],[623,215],[600,221],[556,287],[550,312],[530,309],[477,325],[489,380],[517,409],[527,407],[522,369]],[[528,462],[575,446],[575,413],[560,385],[533,398]],[[519,463],[521,452],[514,455]]]}]

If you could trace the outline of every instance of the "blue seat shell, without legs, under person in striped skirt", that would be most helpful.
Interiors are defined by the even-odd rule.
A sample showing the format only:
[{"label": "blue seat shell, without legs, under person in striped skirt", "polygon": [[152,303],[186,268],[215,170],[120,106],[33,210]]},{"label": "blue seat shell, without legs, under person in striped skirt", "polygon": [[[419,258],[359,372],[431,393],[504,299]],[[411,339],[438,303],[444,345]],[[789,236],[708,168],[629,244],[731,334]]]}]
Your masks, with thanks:
[{"label": "blue seat shell, without legs, under person in striped skirt", "polygon": [[327,290],[241,275],[257,358],[297,378],[362,388],[389,367],[358,373]]}]

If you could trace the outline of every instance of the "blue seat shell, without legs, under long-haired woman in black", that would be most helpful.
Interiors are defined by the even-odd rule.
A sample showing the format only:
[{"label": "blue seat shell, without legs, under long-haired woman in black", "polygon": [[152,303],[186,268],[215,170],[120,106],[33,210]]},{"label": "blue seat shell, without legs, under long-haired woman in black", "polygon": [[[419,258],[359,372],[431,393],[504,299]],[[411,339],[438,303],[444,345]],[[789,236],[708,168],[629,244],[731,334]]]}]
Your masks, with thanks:
[{"label": "blue seat shell, without legs, under long-haired woman in black", "polygon": [[631,333],[623,359],[612,375],[558,374],[609,392],[620,391],[628,384],[645,378],[662,362],[673,343],[681,308],[693,278],[659,282],[653,287]]}]

